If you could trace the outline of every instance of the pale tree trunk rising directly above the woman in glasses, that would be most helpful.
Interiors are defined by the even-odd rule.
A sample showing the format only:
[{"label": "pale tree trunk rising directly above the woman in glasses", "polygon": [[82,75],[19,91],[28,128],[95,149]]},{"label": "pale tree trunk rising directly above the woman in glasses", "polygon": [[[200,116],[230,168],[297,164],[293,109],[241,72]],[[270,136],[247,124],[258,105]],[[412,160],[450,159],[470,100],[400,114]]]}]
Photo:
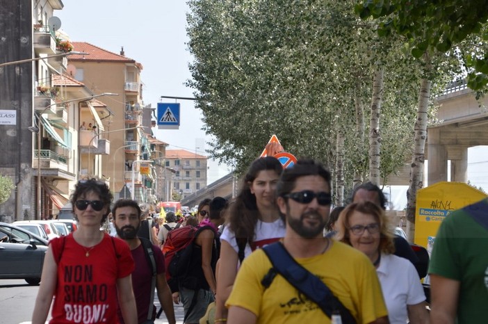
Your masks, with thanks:
[{"label": "pale tree trunk rising directly above the woman in glasses", "polygon": [[383,96],[383,65],[377,65],[373,79],[373,97],[371,99],[371,120],[369,133],[369,180],[380,184],[380,115]]}]

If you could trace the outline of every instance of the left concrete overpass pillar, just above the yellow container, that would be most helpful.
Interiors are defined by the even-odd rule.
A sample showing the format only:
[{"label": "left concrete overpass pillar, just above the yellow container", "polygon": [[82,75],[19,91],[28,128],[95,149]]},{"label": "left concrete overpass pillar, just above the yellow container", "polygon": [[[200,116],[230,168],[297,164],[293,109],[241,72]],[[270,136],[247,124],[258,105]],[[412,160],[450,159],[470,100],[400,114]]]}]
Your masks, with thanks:
[{"label": "left concrete overpass pillar, just above the yellow container", "polygon": [[447,150],[440,141],[440,129],[428,130],[428,184],[447,181]]}]

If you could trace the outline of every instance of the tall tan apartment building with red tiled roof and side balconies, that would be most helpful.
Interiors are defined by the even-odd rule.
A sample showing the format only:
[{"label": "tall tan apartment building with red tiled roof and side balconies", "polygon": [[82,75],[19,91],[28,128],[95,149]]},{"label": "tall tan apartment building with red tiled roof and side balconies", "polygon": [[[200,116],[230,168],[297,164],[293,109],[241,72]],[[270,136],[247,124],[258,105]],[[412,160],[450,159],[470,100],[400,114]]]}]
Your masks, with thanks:
[{"label": "tall tan apartment building with red tiled roof and side balconies", "polygon": [[[143,83],[140,72],[143,65],[124,54],[107,51],[88,42],[73,42],[74,49],[90,55],[72,55],[68,63],[74,66],[72,76],[77,81],[89,84],[95,93],[115,93],[118,96],[100,97],[100,102],[111,107],[113,115],[103,119],[104,131],[99,136],[110,141],[107,159],[90,161],[90,170],[101,168],[101,174],[110,178],[114,198],[125,197],[127,189],[139,202],[154,202],[153,163],[151,143],[143,132]],[[163,146],[164,147],[164,146]],[[161,145],[158,146],[161,149]],[[160,154],[164,154],[161,151]],[[148,165],[151,166],[148,170]]]}]

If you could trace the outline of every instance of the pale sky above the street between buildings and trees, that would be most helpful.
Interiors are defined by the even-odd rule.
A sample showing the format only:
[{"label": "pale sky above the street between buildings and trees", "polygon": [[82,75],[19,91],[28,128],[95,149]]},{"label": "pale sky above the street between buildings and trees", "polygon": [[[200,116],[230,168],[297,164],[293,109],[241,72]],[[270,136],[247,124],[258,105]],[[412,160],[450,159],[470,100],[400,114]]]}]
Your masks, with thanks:
[{"label": "pale sky above the street between buildings and trees", "polygon": [[[144,104],[156,108],[161,95],[193,97],[193,89],[184,82],[190,79],[191,61],[186,43],[185,0],[63,0],[63,10],[55,10],[61,29],[74,42],[89,42],[143,64]],[[90,86],[90,85],[87,85]],[[116,98],[116,97],[115,97]],[[164,102],[175,102],[164,99]],[[186,149],[206,154],[202,142],[211,140],[202,131],[202,115],[193,101],[179,100],[178,130],[154,128],[159,140],[169,143],[167,149]],[[208,183],[227,175],[226,166],[209,161]]]}]

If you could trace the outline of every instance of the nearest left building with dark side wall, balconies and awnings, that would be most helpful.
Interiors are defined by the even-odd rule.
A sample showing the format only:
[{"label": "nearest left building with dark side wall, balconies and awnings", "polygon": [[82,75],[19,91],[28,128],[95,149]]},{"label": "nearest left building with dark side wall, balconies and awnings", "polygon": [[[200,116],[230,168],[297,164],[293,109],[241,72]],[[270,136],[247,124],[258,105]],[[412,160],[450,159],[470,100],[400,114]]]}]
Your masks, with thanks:
[{"label": "nearest left building with dark side wall, balconies and awnings", "polygon": [[56,35],[54,13],[63,9],[62,1],[19,6],[0,0],[0,8],[8,17],[2,21],[0,106],[8,109],[2,116],[10,116],[0,120],[0,172],[16,187],[0,213],[8,220],[47,218],[58,213],[79,179],[79,112],[97,96],[63,76],[72,47]]}]

